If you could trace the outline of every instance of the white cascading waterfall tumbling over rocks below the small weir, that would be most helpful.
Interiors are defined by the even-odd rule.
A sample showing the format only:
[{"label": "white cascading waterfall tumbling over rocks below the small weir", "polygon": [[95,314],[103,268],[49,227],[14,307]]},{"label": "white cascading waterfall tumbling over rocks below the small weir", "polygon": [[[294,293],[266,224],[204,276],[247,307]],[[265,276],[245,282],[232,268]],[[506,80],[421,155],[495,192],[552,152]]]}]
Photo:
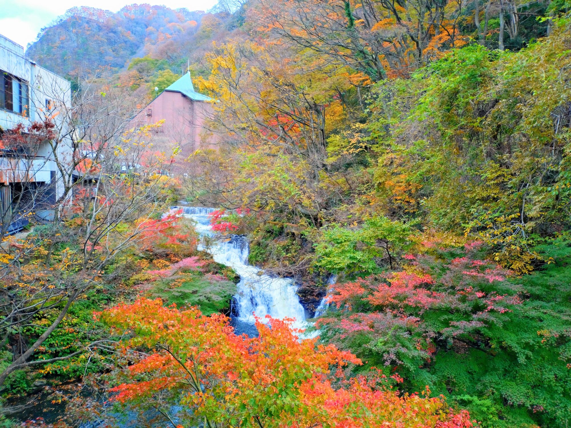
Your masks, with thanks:
[{"label": "white cascading waterfall tumbling over rocks below the small weir", "polygon": [[[196,221],[196,231],[202,237],[212,237],[210,216],[214,208],[179,207],[183,215]],[[201,244],[218,263],[233,268],[240,275],[235,302],[238,321],[253,325],[255,317],[264,321],[272,318],[294,318],[294,327],[302,328],[305,310],[296,294],[292,278],[271,277],[255,266],[248,264],[248,241],[241,235],[231,235],[227,240],[215,240],[211,245]]]}]

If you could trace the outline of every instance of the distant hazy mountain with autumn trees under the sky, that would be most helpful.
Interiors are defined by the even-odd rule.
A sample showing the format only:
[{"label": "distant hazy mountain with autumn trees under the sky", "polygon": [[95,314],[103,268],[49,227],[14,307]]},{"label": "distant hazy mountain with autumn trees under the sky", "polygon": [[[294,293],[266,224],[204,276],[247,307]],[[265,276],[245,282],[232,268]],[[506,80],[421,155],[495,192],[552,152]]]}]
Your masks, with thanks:
[{"label": "distant hazy mountain with autumn trees under the sky", "polygon": [[204,11],[147,4],[125,6],[117,13],[74,7],[42,29],[26,54],[51,71],[75,78],[106,67],[122,70],[132,58],[145,55],[167,60],[180,72],[201,47],[204,35],[197,33],[203,19],[203,31],[212,31],[208,27],[216,19]]}]

